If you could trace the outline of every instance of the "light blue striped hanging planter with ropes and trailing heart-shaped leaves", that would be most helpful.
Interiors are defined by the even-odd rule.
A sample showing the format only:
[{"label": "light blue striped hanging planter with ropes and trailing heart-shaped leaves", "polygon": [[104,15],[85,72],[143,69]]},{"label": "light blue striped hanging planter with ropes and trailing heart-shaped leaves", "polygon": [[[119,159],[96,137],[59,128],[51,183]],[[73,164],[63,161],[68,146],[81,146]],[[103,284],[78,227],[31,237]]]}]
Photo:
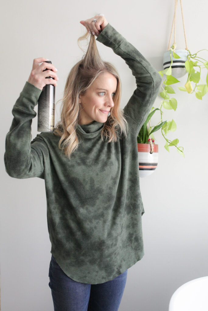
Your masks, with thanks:
[{"label": "light blue striped hanging planter with ropes and trailing heart-shaped leaves", "polygon": [[[163,77],[163,75],[166,75],[166,79],[161,84],[163,91],[159,93],[159,95],[163,99],[162,102],[160,103],[161,122],[162,122],[162,115],[163,115],[162,109],[163,108],[167,110],[173,109],[174,111],[176,111],[177,109],[178,102],[177,102],[176,97],[178,94],[174,91],[172,87],[173,84],[180,82],[177,78],[182,77],[187,74],[186,83],[185,84],[183,83],[182,86],[178,86],[178,89],[188,94],[195,93],[196,98],[199,100],[202,100],[202,97],[208,92],[208,73],[206,75],[206,83],[204,83],[203,78],[201,77],[201,72],[203,72],[203,69],[205,71],[208,70],[208,61],[204,58],[197,56],[199,52],[203,50],[206,50],[206,51],[208,50],[201,49],[197,53],[191,54],[190,50],[187,48],[186,31],[185,31],[185,26],[184,26],[183,9],[182,9],[181,0],[180,0],[181,14],[182,14],[182,20],[183,20],[183,29],[184,29],[184,36],[185,36],[185,42],[186,42],[186,49],[176,50],[176,46],[177,46],[176,44],[177,2],[178,0],[175,0],[175,12],[174,12],[173,24],[172,24],[172,30],[173,30],[173,25],[175,23],[174,43],[172,44],[170,48],[171,37],[172,37],[172,30],[171,30],[168,51],[166,51],[163,56],[164,70],[159,71],[161,77]],[[178,138],[175,138],[173,140],[169,140],[166,138],[166,135],[169,132],[175,132],[176,128],[177,128],[177,125],[173,119],[170,121],[167,121],[162,126],[161,133],[164,139],[166,140],[166,144],[164,147],[169,152],[169,147],[175,146],[177,148],[177,151],[183,157],[185,157],[184,152],[183,152],[184,148],[182,146],[178,146],[178,143],[179,143]]]}]

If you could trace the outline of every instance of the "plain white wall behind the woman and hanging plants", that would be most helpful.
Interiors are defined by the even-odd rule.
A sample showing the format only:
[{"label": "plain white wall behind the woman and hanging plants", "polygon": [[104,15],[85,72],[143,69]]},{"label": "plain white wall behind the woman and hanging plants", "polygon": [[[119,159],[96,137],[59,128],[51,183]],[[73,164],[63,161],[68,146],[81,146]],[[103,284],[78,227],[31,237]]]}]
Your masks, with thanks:
[{"label": "plain white wall behind the woman and hanging plants", "polygon": [[[48,286],[51,244],[46,220],[44,180],[14,179],[3,162],[5,137],[12,123],[12,107],[37,57],[58,69],[56,101],[62,96],[70,68],[81,58],[77,39],[85,28],[80,20],[104,13],[107,21],[132,43],[152,65],[162,70],[172,26],[174,1],[9,1],[2,4],[1,22],[1,300],[2,311],[53,310]],[[185,48],[180,1],[177,8],[177,48]],[[183,0],[188,48],[207,47],[208,2],[196,6]],[[173,37],[172,37],[173,38]],[[172,39],[173,43],[173,39]],[[97,42],[100,54],[118,68],[122,108],[136,85],[131,70],[113,50]],[[207,51],[200,57],[208,59]],[[206,81],[204,74],[203,81]],[[179,79],[180,80],[180,79]],[[186,77],[181,81],[186,82]],[[174,87],[175,90],[177,87]],[[161,132],[159,163],[141,179],[145,256],[128,269],[119,311],[167,311],[173,292],[191,279],[207,275],[207,99],[177,91],[178,108],[164,111],[163,120],[177,123],[168,138],[179,139],[185,158],[170,148]],[[154,107],[159,107],[158,96]],[[57,105],[56,120],[59,118]],[[36,106],[37,111],[37,106]],[[156,115],[156,114],[155,114]],[[159,117],[159,113],[158,113]],[[157,122],[159,119],[157,120]],[[32,138],[37,134],[32,121]]]}]

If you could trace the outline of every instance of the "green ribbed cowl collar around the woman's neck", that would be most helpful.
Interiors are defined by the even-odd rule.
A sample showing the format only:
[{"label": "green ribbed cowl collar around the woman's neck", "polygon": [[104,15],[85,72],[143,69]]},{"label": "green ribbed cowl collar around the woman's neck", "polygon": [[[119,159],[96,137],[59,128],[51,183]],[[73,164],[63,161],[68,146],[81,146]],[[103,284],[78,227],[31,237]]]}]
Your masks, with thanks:
[{"label": "green ribbed cowl collar around the woman's neck", "polygon": [[77,124],[76,131],[78,131],[82,137],[93,138],[98,136],[103,128],[104,123],[93,121],[89,124]]}]

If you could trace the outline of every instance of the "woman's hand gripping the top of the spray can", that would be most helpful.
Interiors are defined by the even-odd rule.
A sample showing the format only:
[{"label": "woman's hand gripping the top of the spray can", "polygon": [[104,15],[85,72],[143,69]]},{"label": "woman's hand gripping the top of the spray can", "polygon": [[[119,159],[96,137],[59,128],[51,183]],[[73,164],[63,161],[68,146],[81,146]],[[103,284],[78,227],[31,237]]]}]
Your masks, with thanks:
[{"label": "woman's hand gripping the top of the spray can", "polygon": [[[27,80],[27,82],[33,84],[40,90],[42,90],[46,84],[53,84],[54,86],[57,86],[58,81],[58,76],[56,74],[57,69],[52,64],[44,63],[46,60],[48,59],[44,57],[35,58],[33,60],[32,71],[30,73],[30,77]],[[39,65],[39,63],[42,64]],[[48,70],[43,71],[46,68]],[[50,69],[52,69],[52,71]],[[46,77],[52,77],[55,80],[50,78],[46,79]]]}]

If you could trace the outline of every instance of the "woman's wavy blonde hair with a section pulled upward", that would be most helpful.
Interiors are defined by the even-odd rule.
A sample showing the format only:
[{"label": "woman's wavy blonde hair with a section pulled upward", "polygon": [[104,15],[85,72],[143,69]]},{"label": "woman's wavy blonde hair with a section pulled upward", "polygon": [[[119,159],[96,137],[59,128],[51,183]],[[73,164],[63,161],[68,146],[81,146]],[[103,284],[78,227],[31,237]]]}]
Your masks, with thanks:
[{"label": "woman's wavy blonde hair with a section pulled upward", "polygon": [[[78,38],[78,45],[80,41],[87,39],[88,36],[89,32],[86,31],[85,35]],[[80,47],[80,49],[82,48]],[[82,49],[82,51],[84,50]],[[128,123],[124,117],[123,109],[120,109],[121,81],[119,73],[113,64],[102,60],[97,49],[95,37],[91,34],[87,52],[71,68],[66,80],[63,98],[59,100],[62,101],[60,121],[56,124],[54,134],[60,136],[58,147],[59,149],[64,149],[64,153],[69,159],[72,152],[79,145],[76,134],[77,124],[79,124],[80,120],[80,110],[82,109],[78,100],[79,95],[85,95],[95,79],[104,72],[109,72],[116,77],[117,87],[113,97],[114,107],[111,108],[110,115],[104,123],[101,138],[102,140],[108,138],[108,142],[116,142],[122,134],[127,135]]]}]

